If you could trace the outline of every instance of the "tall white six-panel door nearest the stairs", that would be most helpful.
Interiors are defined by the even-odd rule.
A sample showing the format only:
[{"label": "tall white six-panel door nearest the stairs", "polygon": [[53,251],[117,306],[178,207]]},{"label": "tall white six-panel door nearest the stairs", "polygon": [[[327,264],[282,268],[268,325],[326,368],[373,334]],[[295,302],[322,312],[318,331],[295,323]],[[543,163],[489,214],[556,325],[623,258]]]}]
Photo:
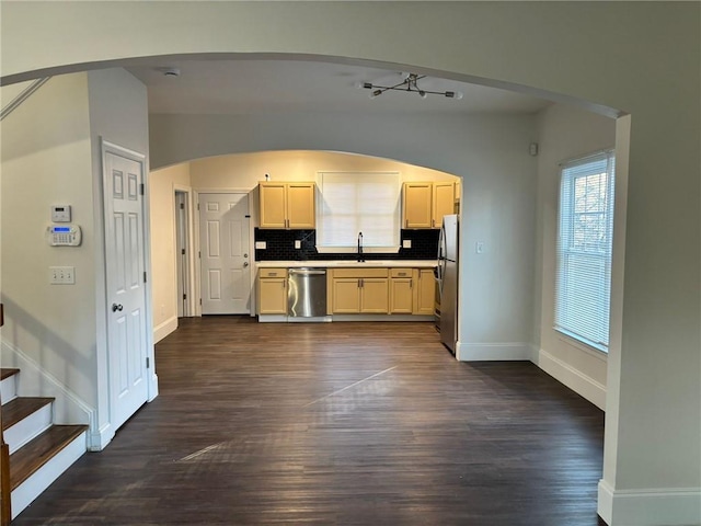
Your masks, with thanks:
[{"label": "tall white six-panel door nearest the stairs", "polygon": [[143,159],[105,150],[110,420],[118,428],[148,398]]}]

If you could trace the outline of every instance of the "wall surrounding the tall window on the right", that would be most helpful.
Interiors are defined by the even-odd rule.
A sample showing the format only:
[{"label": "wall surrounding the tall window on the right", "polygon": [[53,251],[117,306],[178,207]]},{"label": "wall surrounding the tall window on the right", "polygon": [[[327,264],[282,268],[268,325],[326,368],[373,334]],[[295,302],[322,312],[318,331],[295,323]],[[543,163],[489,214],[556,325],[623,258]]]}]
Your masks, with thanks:
[{"label": "wall surrounding the tall window on the right", "polygon": [[543,111],[539,123],[537,283],[538,365],[587,400],[606,405],[607,355],[553,329],[555,249],[560,195],[559,163],[616,145],[616,122],[556,104]]}]

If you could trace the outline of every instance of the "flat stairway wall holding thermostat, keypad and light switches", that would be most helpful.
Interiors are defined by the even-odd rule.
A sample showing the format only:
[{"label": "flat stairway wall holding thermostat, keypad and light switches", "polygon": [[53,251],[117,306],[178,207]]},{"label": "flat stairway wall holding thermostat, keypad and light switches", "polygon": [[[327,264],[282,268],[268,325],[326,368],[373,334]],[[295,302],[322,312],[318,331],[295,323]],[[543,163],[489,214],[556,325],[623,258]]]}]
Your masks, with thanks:
[{"label": "flat stairway wall holding thermostat, keypad and light switches", "polygon": [[[57,396],[57,420],[79,423],[97,405],[88,90],[87,73],[53,78],[2,122],[2,365],[22,368],[20,395]],[[46,241],[60,204],[82,227],[80,247]],[[73,266],[76,285],[49,285],[49,266]]]}]

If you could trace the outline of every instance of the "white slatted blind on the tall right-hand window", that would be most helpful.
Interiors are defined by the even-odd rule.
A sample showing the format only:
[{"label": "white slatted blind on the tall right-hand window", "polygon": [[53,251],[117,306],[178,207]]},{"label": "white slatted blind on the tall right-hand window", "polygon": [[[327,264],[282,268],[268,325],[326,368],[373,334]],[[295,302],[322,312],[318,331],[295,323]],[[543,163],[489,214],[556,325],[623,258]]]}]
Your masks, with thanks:
[{"label": "white slatted blind on the tall right-hand window", "polygon": [[562,165],[555,329],[608,352],[613,151]]}]

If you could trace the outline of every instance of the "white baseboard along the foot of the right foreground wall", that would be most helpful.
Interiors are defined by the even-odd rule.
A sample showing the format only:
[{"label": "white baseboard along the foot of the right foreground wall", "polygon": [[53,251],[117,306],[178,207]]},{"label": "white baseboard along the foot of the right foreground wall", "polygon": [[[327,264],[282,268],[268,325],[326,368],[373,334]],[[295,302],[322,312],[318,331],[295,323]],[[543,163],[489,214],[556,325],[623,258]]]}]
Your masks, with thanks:
[{"label": "white baseboard along the foot of the right foreground wall", "polygon": [[611,526],[701,525],[701,488],[613,490],[601,480],[598,514]]}]

